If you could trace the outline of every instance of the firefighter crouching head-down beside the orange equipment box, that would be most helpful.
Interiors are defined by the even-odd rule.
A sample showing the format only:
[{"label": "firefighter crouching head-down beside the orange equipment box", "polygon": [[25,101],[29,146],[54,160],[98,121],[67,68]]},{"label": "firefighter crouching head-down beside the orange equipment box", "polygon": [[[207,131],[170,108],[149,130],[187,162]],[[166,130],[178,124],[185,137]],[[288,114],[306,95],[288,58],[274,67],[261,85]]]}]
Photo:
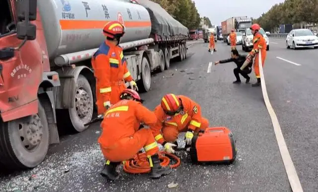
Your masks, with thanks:
[{"label": "firefighter crouching head-down beside the orange equipment box", "polygon": [[173,147],[177,146],[180,132],[186,132],[187,147],[191,145],[194,133],[209,127],[209,121],[201,116],[200,105],[183,95],[164,95],[161,104],[155,108],[155,114],[158,122],[150,128],[168,153],[174,153]]}]

